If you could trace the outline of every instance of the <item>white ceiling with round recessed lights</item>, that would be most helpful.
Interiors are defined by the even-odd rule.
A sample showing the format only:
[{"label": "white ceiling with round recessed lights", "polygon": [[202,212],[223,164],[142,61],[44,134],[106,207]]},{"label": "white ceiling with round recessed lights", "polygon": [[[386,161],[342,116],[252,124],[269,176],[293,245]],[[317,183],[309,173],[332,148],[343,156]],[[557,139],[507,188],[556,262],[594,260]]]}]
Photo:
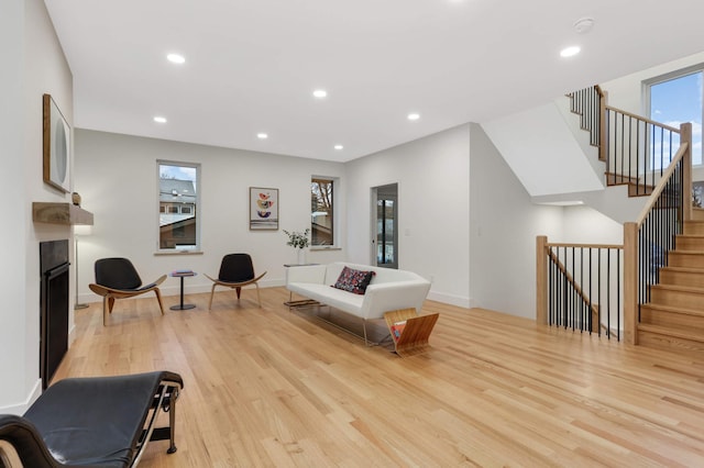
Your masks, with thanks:
[{"label": "white ceiling with round recessed lights", "polygon": [[45,3],[76,127],[338,161],[704,51],[702,0]]}]

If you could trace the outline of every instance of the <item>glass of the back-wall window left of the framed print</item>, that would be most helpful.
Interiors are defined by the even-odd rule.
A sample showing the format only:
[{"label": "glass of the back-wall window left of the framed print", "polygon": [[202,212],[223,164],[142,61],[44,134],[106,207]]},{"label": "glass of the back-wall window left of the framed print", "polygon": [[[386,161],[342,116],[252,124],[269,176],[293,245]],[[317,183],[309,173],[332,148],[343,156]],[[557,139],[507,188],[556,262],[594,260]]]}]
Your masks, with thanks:
[{"label": "glass of the back-wall window left of the framed print", "polygon": [[160,164],[158,174],[160,248],[196,248],[197,168]]}]

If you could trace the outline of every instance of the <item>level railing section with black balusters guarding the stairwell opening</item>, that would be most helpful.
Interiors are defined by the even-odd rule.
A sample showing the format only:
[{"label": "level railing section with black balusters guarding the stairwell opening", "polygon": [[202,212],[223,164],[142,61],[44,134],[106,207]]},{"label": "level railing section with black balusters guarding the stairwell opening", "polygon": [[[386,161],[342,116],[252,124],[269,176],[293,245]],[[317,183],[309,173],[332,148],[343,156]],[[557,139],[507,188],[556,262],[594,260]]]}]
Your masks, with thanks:
[{"label": "level railing section with black balusters guarding the stairwell opening", "polygon": [[537,237],[538,323],[620,339],[623,245]]}]

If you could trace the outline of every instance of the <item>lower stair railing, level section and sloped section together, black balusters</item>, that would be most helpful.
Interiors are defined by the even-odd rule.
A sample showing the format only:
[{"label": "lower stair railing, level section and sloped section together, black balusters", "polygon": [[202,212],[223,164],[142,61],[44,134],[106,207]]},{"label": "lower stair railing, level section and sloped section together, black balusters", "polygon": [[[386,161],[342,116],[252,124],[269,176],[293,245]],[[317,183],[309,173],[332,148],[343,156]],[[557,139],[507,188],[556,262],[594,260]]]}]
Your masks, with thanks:
[{"label": "lower stair railing, level section and sloped section together, black balusters", "polygon": [[537,237],[538,323],[600,336],[605,327],[606,336],[617,339],[623,330],[624,341],[638,343],[639,305],[649,301],[674,236],[692,219],[692,124],[681,124],[678,134],[679,149],[644,210],[636,222],[624,224],[623,245],[550,244]]}]

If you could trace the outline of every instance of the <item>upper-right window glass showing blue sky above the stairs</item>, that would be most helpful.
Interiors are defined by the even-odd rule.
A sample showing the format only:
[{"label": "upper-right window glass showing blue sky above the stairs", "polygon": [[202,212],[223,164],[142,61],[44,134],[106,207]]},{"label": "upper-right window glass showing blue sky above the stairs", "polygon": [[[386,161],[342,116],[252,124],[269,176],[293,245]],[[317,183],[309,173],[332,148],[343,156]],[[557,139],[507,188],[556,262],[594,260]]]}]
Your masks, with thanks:
[{"label": "upper-right window glass showing blue sky above the stairs", "polygon": [[[650,119],[675,129],[682,122],[692,122],[692,164],[702,164],[702,71],[650,86]],[[679,142],[673,142],[679,144]],[[656,143],[652,151],[659,155]],[[667,145],[667,142],[664,143]],[[658,168],[656,156],[656,168]]]}]

